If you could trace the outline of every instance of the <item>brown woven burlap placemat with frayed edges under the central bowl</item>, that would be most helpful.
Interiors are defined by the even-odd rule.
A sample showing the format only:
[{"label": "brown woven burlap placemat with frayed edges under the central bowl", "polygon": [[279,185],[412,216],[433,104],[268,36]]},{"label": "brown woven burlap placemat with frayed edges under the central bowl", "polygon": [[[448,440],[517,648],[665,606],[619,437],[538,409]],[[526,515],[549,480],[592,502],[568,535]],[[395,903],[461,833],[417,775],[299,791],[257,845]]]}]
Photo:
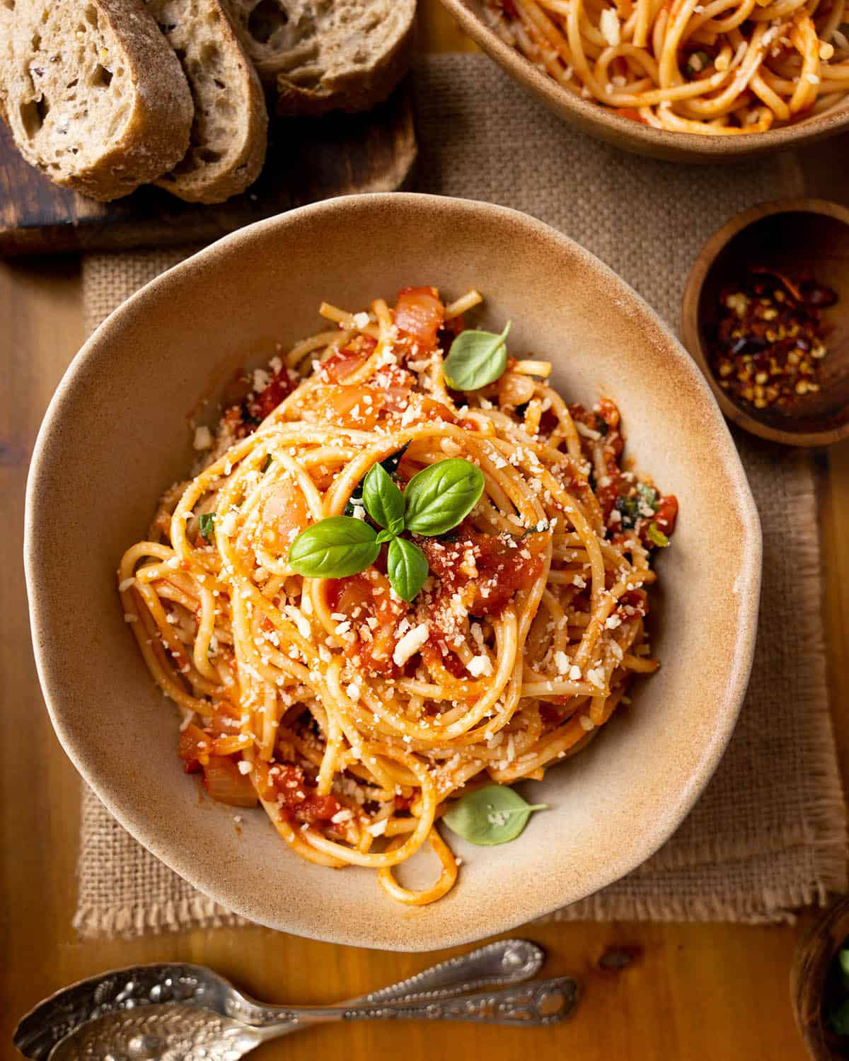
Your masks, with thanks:
[{"label": "brown woven burlap placemat with frayed edges under the central bowl", "polygon": [[[686,276],[711,232],[752,203],[801,189],[791,157],[704,169],[595,143],[482,57],[431,58],[415,83],[421,191],[502,203],[547,221],[604,259],[676,328]],[[88,326],[186,253],[88,257]],[[629,876],[557,918],[790,920],[794,907],[846,887],[846,806],[826,696],[811,465],[803,454],[738,442],[764,530],[762,618],[740,723],[675,836]],[[83,935],[238,920],[84,794],[74,920]]]}]

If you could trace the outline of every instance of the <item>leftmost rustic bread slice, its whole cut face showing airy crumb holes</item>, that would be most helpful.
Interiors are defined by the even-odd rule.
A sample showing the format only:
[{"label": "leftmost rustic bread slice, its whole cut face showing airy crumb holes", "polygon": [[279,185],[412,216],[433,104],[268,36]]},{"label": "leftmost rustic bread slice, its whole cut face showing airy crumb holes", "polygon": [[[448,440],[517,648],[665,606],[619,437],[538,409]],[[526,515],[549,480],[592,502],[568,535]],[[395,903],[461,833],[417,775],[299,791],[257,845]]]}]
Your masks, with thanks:
[{"label": "leftmost rustic bread slice, its whole cut face showing airy crumb holes", "polygon": [[138,0],[0,0],[0,108],[23,157],[99,199],[186,154],[192,99]]}]

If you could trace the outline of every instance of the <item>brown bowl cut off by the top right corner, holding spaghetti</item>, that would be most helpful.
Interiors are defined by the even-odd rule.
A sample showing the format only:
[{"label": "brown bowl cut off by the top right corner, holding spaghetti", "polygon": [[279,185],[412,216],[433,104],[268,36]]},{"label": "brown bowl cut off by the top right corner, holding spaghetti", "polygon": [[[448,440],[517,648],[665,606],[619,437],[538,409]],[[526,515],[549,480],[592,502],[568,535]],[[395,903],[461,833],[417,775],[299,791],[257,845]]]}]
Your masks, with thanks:
[{"label": "brown bowl cut off by the top right corner, holding spaghetti", "polygon": [[561,88],[489,28],[483,16],[484,0],[441,0],[441,3],[490,58],[556,115],[597,140],[638,155],[672,162],[729,162],[801,147],[849,129],[849,106],[750,136],[703,136],[652,128]]}]

